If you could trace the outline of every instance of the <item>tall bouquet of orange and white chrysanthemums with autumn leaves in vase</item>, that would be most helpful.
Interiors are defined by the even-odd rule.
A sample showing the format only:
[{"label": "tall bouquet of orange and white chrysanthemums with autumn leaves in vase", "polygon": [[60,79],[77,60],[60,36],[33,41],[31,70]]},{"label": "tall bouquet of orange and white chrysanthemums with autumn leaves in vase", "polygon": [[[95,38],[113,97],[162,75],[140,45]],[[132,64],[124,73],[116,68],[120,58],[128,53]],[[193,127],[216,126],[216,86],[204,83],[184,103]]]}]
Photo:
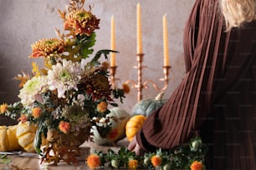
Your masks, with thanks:
[{"label": "tall bouquet of orange and white chrysanthemums with autumn leaves in vase", "polygon": [[[1,113],[38,126],[34,147],[44,162],[76,163],[79,144],[91,139],[95,126],[102,138],[110,132],[115,117],[109,106],[123,101],[129,88],[111,87],[108,62],[100,57],[110,50],[94,53],[95,29],[100,19],[84,9],[85,0],[70,0],[66,11],[59,11],[64,31],[56,29],[57,38],[44,38],[32,44],[30,58],[43,58],[44,67],[32,62],[32,73],[19,74],[20,101],[2,104]],[[44,150],[41,144],[47,138]],[[51,155],[50,152],[54,152]]]}]

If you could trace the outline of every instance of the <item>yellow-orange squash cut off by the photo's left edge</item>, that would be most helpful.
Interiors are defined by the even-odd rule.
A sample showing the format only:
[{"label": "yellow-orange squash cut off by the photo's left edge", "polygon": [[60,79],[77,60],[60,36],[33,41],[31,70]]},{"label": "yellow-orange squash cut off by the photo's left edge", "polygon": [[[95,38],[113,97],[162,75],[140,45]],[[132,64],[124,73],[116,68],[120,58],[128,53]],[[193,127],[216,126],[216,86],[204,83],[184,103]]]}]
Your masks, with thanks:
[{"label": "yellow-orange squash cut off by the photo's left edge", "polygon": [[0,151],[15,151],[21,148],[16,138],[17,125],[0,126]]}]

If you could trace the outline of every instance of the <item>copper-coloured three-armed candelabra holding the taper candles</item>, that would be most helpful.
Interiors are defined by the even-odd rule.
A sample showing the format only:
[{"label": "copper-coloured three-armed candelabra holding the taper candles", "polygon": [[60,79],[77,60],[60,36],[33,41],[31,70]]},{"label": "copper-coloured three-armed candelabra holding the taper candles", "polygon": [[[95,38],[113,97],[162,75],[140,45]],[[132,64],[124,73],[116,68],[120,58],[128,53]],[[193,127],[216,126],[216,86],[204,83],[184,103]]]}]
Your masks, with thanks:
[{"label": "copper-coloured three-armed candelabra holding the taper candles", "polygon": [[[155,88],[155,90],[158,92],[166,90],[166,88],[168,87],[169,71],[171,69],[171,66],[163,66],[164,77],[160,78],[160,81],[164,82],[164,86],[158,87],[156,82],[154,82],[153,80],[146,80],[143,82],[142,69],[145,66],[142,66],[142,62],[143,62],[144,53],[138,53],[136,54],[136,57],[137,57],[137,66],[135,66],[134,68],[138,70],[137,82],[134,80],[127,80],[125,83],[131,84],[131,87],[137,88],[137,99],[139,102],[143,98],[143,95],[142,95],[143,88],[147,88],[149,83],[151,83],[152,86]],[[115,81],[118,80],[118,78],[115,78],[116,68],[117,68],[116,66],[110,67],[110,83],[113,87],[115,87]]]}]

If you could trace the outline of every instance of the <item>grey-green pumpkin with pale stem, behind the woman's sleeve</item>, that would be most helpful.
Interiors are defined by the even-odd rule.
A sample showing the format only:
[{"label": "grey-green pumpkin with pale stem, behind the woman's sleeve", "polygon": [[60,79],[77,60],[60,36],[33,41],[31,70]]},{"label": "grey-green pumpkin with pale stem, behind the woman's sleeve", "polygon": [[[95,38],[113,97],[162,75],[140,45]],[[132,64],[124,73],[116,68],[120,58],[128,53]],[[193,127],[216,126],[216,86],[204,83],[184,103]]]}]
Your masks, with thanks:
[{"label": "grey-green pumpkin with pale stem, behind the woman's sleeve", "polygon": [[163,95],[164,92],[160,92],[154,99],[144,99],[137,102],[131,111],[131,116],[141,114],[148,117],[166,102],[166,100],[162,100]]}]

